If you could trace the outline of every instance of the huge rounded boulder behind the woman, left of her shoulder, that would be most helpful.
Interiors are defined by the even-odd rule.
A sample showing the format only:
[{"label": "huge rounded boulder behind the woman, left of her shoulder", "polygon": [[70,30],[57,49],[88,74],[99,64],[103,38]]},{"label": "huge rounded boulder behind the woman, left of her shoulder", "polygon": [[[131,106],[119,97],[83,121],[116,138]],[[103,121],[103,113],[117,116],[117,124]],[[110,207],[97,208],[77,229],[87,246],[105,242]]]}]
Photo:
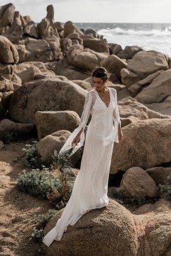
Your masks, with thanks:
[{"label": "huge rounded boulder behind the woman, left of her shoulder", "polygon": [[39,78],[18,88],[10,98],[9,114],[16,122],[34,122],[37,111],[73,110],[82,114],[86,91],[56,76]]}]

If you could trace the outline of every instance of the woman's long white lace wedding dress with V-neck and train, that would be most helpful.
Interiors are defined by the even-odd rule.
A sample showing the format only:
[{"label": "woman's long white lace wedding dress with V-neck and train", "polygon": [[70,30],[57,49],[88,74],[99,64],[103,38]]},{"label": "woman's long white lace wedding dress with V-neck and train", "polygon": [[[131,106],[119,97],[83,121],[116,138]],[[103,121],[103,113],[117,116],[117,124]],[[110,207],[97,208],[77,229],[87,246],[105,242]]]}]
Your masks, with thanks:
[{"label": "woman's long white lace wedding dress with V-neck and train", "polygon": [[[84,144],[80,170],[75,179],[70,200],[68,200],[60,219],[42,240],[47,246],[50,246],[54,240],[61,240],[68,224],[73,226],[89,210],[108,205],[108,176],[111,155],[113,142],[119,143],[118,123],[120,123],[117,91],[111,87],[108,89],[110,92],[108,106],[99,97],[96,89],[87,92],[79,127],[70,134],[60,150],[61,153],[72,148],[73,138],[83,128],[80,142],[72,151],[73,154]],[[90,114],[91,121],[87,126],[85,136],[84,129]]]}]

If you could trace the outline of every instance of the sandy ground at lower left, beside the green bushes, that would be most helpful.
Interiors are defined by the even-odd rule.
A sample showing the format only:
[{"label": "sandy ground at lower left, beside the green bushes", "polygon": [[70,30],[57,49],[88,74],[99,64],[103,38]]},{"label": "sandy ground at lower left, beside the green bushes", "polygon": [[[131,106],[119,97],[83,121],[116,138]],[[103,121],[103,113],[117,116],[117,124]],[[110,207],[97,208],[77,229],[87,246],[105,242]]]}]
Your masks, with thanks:
[{"label": "sandy ground at lower left, beside the green bushes", "polygon": [[16,189],[18,174],[28,168],[13,160],[22,155],[25,144],[27,141],[9,143],[0,150],[0,255],[40,255],[30,234],[37,215],[52,208],[47,200]]}]

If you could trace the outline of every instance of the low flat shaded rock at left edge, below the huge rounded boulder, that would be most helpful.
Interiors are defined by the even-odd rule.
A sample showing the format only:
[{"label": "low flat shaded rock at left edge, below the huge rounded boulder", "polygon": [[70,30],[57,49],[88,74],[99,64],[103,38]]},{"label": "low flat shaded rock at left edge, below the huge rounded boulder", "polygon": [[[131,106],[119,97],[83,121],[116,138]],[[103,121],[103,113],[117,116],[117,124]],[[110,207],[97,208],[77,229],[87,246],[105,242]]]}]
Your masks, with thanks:
[{"label": "low flat shaded rock at left edge, below the huge rounded boulder", "polygon": [[9,119],[3,119],[0,121],[0,138],[3,137],[5,132],[16,132],[22,135],[30,133],[33,129],[33,124],[20,124]]}]

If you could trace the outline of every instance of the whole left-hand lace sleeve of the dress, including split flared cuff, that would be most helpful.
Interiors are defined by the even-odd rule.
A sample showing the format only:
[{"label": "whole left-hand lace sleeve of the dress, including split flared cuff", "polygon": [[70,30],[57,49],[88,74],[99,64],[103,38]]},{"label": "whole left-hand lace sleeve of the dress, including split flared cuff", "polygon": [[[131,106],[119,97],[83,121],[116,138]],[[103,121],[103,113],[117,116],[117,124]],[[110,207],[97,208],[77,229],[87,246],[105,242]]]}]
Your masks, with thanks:
[{"label": "whole left-hand lace sleeve of the dress, including split flared cuff", "polygon": [[66,151],[66,150],[70,150],[70,148],[72,148],[72,141],[73,138],[75,138],[75,136],[77,136],[77,134],[82,130],[82,133],[80,134],[80,141],[79,143],[77,143],[77,145],[73,148],[71,155],[73,155],[73,153],[75,153],[75,151],[79,150],[79,148],[81,146],[84,145],[84,140],[85,140],[85,133],[84,133],[84,129],[85,129],[85,125],[87,124],[87,121],[89,119],[89,115],[91,113],[91,106],[92,106],[92,96],[91,93],[87,92],[86,96],[85,96],[85,103],[84,103],[84,108],[82,111],[82,115],[80,117],[80,124],[79,126],[72,132],[72,134],[70,134],[70,136],[68,137],[68,139],[66,140],[65,144],[62,146],[60,153]]}]

